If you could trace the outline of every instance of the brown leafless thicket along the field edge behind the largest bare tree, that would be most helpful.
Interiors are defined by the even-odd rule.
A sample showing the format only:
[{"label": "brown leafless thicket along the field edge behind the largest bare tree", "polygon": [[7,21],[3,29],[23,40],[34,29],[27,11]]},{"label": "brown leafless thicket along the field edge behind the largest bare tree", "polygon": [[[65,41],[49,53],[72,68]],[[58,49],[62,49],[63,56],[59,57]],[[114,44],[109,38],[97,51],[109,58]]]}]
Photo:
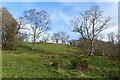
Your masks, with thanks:
[{"label": "brown leafless thicket along the field edge behind the largest bare tree", "polygon": [[[112,32],[113,33],[113,32]],[[111,34],[111,32],[109,33]],[[109,40],[107,42],[102,41],[100,38],[96,38],[94,42],[94,56],[118,56],[120,55],[120,38],[119,35],[114,35],[113,40]],[[108,35],[108,39],[109,39]],[[112,36],[111,36],[112,37]],[[82,50],[81,54],[89,55],[90,52],[90,41],[89,39],[84,39],[81,37],[77,40],[69,40],[69,44],[73,46],[78,46]]]}]

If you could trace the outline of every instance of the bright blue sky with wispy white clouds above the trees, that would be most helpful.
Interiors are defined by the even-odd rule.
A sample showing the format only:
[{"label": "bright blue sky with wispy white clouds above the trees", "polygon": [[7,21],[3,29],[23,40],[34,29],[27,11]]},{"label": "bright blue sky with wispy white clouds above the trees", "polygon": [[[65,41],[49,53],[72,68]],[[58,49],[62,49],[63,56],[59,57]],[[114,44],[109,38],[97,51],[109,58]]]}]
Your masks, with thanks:
[{"label": "bright blue sky with wispy white clouds above the trees", "polygon": [[118,33],[117,2],[2,2],[2,7],[6,7],[16,19],[23,16],[23,12],[26,10],[36,9],[37,11],[47,11],[52,20],[52,27],[48,33],[52,34],[64,31],[70,35],[70,39],[78,39],[80,37],[79,33],[70,31],[70,27],[72,27],[70,20],[94,5],[99,5],[101,10],[104,11],[104,15],[110,16],[112,18],[111,22],[115,23],[111,28],[102,32],[104,41],[108,41],[107,34],[109,32]]}]

